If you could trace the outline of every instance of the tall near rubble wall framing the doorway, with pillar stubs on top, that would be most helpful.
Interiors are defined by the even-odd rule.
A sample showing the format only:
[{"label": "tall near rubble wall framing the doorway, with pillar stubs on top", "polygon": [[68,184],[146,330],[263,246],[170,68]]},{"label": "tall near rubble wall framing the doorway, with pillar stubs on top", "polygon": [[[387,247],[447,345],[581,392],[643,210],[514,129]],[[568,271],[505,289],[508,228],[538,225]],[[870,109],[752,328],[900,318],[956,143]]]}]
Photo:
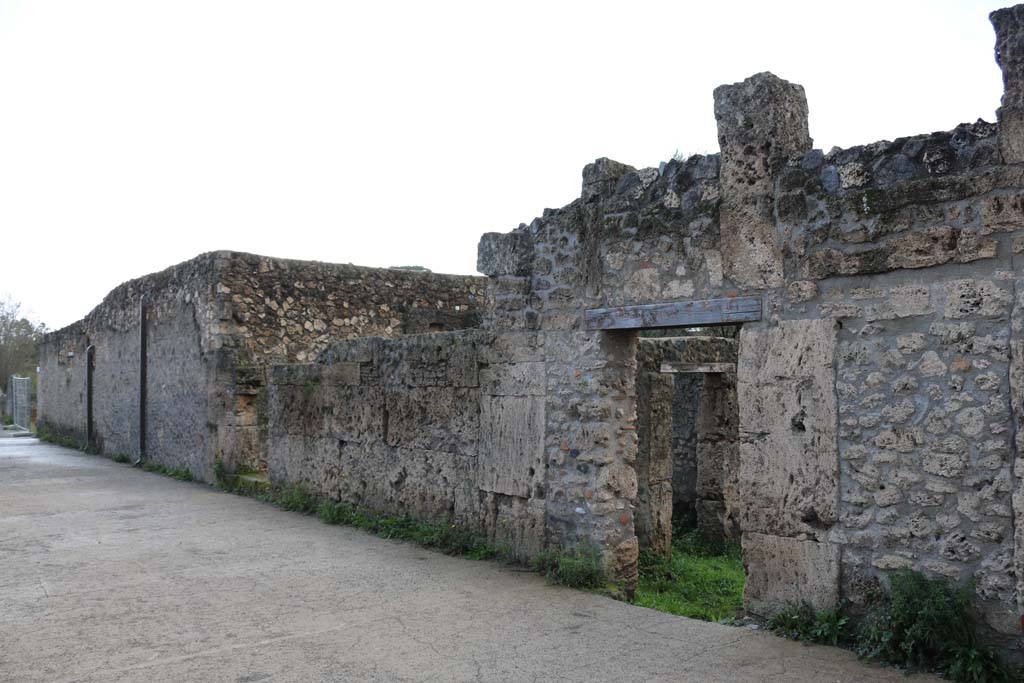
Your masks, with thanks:
[{"label": "tall near rubble wall framing the doorway, with pillar stubs on top", "polygon": [[553,541],[590,539],[635,575],[636,333],[588,331],[583,309],[754,295],[737,387],[748,607],[856,605],[912,566],[975,579],[988,626],[1016,636],[1024,10],[1006,11],[998,125],[826,155],[803,89],[759,74],[716,90],[721,155],[598,160],[578,201],[482,238],[495,329],[541,340]]}]

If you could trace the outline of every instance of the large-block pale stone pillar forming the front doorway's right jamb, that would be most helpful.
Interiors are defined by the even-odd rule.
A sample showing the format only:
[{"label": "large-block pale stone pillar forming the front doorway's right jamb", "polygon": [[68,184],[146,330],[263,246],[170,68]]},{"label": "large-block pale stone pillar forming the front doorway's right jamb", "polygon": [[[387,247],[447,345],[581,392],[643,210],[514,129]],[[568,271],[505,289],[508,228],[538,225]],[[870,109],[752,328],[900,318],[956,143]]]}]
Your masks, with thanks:
[{"label": "large-block pale stone pillar forming the front doorway's right jamb", "polygon": [[743,605],[839,602],[839,408],[835,321],[743,327],[739,336],[739,496]]}]

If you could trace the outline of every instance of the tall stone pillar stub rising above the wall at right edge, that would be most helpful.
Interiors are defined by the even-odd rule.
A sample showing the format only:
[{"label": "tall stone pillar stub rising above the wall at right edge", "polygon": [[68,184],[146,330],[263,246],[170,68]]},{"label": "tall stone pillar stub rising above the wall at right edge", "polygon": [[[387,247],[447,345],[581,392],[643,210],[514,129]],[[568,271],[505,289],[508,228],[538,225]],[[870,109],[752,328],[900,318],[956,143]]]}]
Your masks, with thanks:
[{"label": "tall stone pillar stub rising above the wall at right edge", "polygon": [[995,29],[995,61],[1002,70],[999,152],[1007,164],[1024,161],[1024,5],[989,14]]}]

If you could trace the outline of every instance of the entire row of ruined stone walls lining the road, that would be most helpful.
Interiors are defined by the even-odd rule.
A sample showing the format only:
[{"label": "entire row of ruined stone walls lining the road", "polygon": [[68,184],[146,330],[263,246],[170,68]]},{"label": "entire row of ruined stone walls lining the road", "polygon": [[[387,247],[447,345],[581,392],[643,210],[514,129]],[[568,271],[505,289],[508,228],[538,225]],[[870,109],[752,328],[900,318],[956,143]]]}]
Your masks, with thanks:
[{"label": "entire row of ruined stone walls lining the road", "polygon": [[[1019,652],[1024,5],[991,22],[996,123],[824,154],[803,88],[758,74],[715,91],[720,154],[598,160],[577,201],[482,237],[486,281],[223,253],[129,283],[44,340],[41,424],[523,557],[594,544],[627,588],[691,500],[741,539],[755,613],[857,609],[912,567],[973,581]],[[640,340],[673,327],[651,304],[685,327],[730,301],[758,304],[738,343]],[[658,379],[664,353],[735,370],[700,398]]]}]

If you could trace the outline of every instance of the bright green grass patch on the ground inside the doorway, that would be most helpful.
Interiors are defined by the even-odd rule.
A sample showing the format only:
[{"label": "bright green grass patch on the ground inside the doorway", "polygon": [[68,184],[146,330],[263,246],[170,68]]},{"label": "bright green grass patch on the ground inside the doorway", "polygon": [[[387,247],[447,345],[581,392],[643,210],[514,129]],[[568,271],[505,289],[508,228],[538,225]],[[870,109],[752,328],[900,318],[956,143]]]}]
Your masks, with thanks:
[{"label": "bright green grass patch on the ground inside the doorway", "polygon": [[640,554],[634,603],[706,622],[735,617],[743,607],[743,562],[738,545],[678,533],[670,556]]}]

